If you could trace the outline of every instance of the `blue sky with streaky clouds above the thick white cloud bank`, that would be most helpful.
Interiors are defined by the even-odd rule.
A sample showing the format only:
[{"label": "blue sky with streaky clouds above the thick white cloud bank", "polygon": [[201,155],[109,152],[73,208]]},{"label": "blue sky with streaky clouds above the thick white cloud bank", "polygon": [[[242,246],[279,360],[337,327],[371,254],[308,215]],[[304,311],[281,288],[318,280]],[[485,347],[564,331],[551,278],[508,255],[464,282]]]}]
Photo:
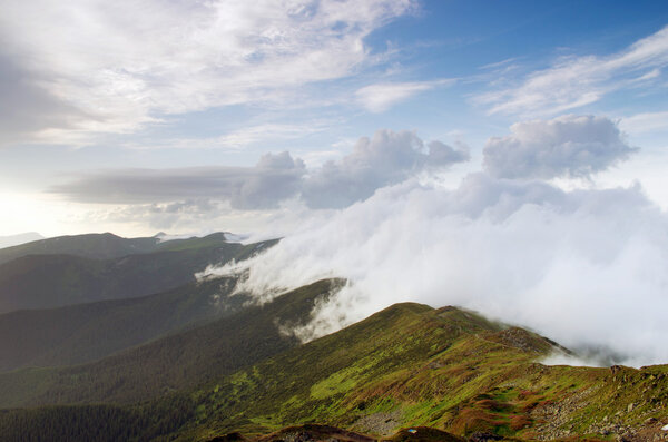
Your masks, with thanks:
[{"label": "blue sky with streaky clouds above the thick white cloud bank", "polygon": [[[607,118],[640,149],[544,179],[638,181],[668,207],[666,2],[40,0],[0,12],[0,235],[259,229],[294,205],[342,209],[416,176],[456,186],[492,137],[568,115]],[[413,138],[374,137],[404,130]],[[450,150],[430,156],[430,141]]]}]

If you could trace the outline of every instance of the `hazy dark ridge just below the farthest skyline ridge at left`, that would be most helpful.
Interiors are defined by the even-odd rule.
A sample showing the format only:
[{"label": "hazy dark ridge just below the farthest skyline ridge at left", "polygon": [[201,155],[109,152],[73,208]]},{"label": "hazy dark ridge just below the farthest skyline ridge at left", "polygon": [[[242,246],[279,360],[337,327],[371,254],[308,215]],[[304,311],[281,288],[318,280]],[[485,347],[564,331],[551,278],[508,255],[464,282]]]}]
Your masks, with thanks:
[{"label": "hazy dark ridge just below the farthest skyline ridge at left", "polygon": [[244,259],[273,244],[226,243],[218,234],[167,242],[157,245],[157,252],[145,249],[107,259],[56,254],[21,256],[0,264],[0,313],[166,292],[194,283],[194,274],[209,264]]}]

